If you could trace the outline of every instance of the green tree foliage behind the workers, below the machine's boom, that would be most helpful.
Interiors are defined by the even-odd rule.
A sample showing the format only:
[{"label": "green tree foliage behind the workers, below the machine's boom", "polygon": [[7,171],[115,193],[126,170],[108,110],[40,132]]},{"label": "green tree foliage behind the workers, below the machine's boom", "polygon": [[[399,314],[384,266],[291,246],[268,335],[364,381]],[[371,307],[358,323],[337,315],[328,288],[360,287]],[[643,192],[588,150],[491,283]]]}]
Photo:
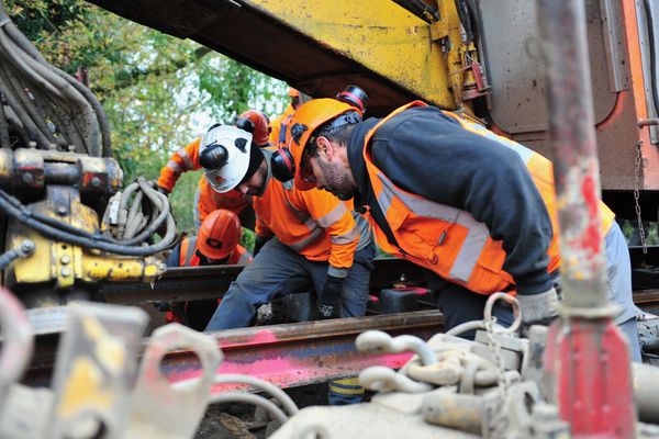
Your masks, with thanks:
[{"label": "green tree foliage behind the workers, below the machine's boom", "polygon": [[[157,179],[168,157],[213,122],[247,109],[275,116],[286,83],[191,42],[161,34],[81,0],[5,0],[21,31],[53,65],[89,70],[90,87],[112,127],[124,183]],[[183,175],[170,195],[179,228],[192,228],[200,172]]]}]

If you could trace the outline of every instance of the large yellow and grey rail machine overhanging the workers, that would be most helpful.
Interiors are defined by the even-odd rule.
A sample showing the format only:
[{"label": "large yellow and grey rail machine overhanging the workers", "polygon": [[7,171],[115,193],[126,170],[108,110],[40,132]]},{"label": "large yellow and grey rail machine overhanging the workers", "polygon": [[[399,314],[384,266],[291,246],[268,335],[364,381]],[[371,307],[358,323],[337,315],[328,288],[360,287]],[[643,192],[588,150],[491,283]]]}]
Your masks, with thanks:
[{"label": "large yellow and grey rail machine overhanging the workers", "polygon": [[[313,97],[347,83],[382,116],[413,99],[473,113],[549,155],[537,4],[528,0],[90,0],[194,40]],[[587,2],[595,127],[605,201],[652,218],[659,190],[652,1]],[[654,23],[654,24],[652,24]],[[654,29],[652,29],[654,27]]]}]

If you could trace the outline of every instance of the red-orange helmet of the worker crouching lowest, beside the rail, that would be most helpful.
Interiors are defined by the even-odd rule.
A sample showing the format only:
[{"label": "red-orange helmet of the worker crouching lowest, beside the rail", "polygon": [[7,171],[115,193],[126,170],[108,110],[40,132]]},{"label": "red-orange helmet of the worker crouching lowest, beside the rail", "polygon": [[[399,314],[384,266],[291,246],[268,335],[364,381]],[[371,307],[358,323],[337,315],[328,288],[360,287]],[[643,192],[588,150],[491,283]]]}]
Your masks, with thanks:
[{"label": "red-orange helmet of the worker crouching lowest, beside the rail", "polygon": [[209,259],[225,259],[235,250],[243,228],[232,211],[217,209],[205,217],[197,235],[197,249]]}]

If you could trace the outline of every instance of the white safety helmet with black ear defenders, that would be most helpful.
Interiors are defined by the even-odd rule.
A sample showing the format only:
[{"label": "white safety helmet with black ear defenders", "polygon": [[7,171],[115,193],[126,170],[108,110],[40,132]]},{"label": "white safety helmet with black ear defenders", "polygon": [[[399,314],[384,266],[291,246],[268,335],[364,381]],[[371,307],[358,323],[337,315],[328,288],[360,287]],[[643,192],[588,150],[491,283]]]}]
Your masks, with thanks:
[{"label": "white safety helmet with black ear defenders", "polygon": [[211,187],[220,193],[234,189],[249,167],[252,134],[231,125],[216,125],[201,139],[199,164]]}]

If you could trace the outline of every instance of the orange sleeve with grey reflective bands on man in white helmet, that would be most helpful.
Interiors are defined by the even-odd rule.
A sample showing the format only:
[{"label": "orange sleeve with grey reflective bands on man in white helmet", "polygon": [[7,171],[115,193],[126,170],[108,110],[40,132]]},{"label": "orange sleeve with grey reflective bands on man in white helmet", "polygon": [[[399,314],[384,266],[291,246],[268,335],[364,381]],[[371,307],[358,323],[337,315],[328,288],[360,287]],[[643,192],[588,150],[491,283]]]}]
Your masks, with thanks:
[{"label": "orange sleeve with grey reflective bands on man in white helmet", "polygon": [[309,215],[330,234],[332,249],[327,274],[345,278],[353,267],[355,251],[361,236],[351,213],[351,206],[332,195],[330,192],[313,189],[295,191],[297,207],[309,212]]}]

